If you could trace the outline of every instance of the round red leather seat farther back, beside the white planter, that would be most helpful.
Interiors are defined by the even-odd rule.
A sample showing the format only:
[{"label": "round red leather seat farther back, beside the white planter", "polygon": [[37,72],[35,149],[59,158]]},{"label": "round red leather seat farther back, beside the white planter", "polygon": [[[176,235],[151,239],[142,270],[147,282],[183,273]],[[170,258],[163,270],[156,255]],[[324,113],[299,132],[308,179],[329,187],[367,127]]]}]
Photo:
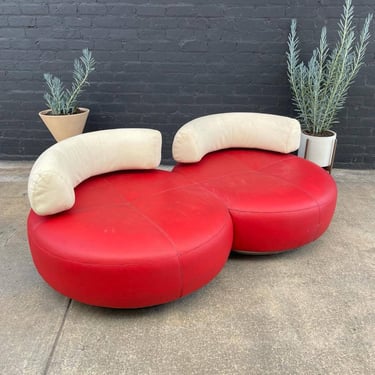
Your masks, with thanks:
[{"label": "round red leather seat farther back, beside the white planter", "polygon": [[315,164],[291,154],[228,149],[173,173],[199,183],[228,207],[233,249],[264,253],[293,249],[317,239],[328,227],[337,189]]}]

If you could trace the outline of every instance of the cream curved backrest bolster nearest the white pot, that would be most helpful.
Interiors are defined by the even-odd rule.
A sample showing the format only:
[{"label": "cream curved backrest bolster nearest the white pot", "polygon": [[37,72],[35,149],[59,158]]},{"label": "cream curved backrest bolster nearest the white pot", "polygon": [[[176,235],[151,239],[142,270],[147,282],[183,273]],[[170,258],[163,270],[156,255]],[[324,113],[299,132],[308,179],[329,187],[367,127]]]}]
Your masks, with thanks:
[{"label": "cream curved backrest bolster nearest the white pot", "polygon": [[295,119],[262,113],[209,115],[182,126],[173,140],[173,158],[194,163],[209,152],[231,147],[289,153],[299,147],[301,126]]}]

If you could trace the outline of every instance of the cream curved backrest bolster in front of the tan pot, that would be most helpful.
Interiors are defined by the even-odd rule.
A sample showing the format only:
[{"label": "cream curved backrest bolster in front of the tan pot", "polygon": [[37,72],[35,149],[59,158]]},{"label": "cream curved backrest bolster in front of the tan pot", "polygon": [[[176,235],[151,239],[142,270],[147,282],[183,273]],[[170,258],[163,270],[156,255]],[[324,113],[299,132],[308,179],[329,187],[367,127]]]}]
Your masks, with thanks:
[{"label": "cream curved backrest bolster in front of the tan pot", "polygon": [[55,214],[74,205],[74,188],[91,176],[158,167],[161,142],[157,130],[111,129],[54,144],[31,169],[28,183],[31,208],[39,215]]}]

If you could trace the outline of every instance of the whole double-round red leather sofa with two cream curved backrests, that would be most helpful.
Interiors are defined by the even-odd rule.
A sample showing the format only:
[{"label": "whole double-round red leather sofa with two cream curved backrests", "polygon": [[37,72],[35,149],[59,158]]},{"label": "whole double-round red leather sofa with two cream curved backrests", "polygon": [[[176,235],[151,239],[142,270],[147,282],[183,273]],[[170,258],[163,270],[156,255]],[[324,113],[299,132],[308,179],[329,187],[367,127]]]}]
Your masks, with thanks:
[{"label": "whole double-round red leather sofa with two cream curved backrests", "polygon": [[[38,158],[29,178],[28,239],[51,287],[96,306],[157,305],[207,284],[232,249],[279,252],[324,232],[336,186],[327,172],[290,154],[299,124],[289,119],[289,128],[288,119],[270,115],[214,116],[197,119],[198,131],[193,124],[198,154],[189,150],[190,125],[179,130],[172,172],[157,169],[161,135],[150,129],[82,134]],[[226,117],[242,137],[235,139]],[[251,131],[261,124],[270,138],[281,126],[288,136],[282,146],[279,135],[271,145],[268,137],[249,144],[254,134],[246,134],[243,122]],[[221,127],[230,135],[215,143]],[[202,130],[210,142],[202,143]],[[271,150],[253,149],[260,146]],[[181,160],[192,154],[199,160]]]}]

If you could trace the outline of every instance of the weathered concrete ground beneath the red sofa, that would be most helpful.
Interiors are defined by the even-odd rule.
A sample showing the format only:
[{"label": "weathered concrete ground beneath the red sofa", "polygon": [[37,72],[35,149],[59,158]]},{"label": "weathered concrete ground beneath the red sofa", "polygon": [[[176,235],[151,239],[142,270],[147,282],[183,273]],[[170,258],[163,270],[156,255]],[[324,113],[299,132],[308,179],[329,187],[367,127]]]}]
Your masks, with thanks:
[{"label": "weathered concrete ground beneath the red sofa", "polygon": [[140,310],[54,292],[30,257],[30,163],[0,162],[0,374],[375,374],[375,170],[334,170],[328,231],[233,254],[209,285]]}]

